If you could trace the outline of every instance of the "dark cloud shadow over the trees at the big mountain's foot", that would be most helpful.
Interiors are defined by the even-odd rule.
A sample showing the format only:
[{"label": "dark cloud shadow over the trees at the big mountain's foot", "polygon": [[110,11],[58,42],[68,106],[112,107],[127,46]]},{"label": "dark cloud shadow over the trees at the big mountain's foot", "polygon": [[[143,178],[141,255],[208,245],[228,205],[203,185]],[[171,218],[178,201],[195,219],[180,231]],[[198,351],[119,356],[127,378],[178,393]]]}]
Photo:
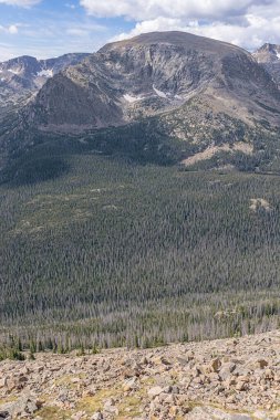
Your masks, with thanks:
[{"label": "dark cloud shadow over the trees at the big mountain's foot", "polygon": [[183,154],[176,141],[149,128],[135,124],[89,133],[83,138],[34,137],[33,145],[25,149],[13,145],[0,182],[17,187],[55,179],[70,170],[69,158],[81,154],[121,157],[139,165],[169,166],[180,161]]}]

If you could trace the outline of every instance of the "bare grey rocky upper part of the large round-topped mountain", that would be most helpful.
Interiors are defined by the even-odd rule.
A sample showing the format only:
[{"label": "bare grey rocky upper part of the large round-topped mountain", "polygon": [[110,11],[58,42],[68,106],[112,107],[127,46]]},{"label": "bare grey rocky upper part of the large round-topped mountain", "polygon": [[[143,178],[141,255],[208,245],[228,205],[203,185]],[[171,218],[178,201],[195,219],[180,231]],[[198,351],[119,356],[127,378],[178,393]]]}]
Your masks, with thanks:
[{"label": "bare grey rocky upper part of the large round-topped mountain", "polygon": [[82,132],[178,109],[198,97],[209,111],[248,124],[280,124],[280,93],[249,53],[180,32],[105,45],[48,81],[32,116],[44,129]]}]

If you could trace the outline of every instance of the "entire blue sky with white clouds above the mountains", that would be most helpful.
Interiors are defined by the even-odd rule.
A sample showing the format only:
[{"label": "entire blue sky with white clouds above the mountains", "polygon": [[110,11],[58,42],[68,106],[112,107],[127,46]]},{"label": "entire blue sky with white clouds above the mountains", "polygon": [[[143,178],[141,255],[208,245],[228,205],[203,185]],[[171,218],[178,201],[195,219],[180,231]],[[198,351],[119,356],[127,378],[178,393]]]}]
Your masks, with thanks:
[{"label": "entire blue sky with white clouds above the mountains", "polygon": [[112,40],[164,30],[248,50],[280,43],[280,0],[0,0],[0,61],[93,52]]}]

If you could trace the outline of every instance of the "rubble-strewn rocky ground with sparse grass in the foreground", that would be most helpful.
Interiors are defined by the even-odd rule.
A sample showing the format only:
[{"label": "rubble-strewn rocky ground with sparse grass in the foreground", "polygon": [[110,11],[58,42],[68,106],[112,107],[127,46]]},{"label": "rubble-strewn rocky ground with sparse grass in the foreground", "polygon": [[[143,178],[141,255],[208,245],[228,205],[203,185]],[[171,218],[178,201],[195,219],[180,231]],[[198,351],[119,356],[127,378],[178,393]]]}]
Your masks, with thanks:
[{"label": "rubble-strewn rocky ground with sparse grass in the foreground", "polygon": [[280,419],[280,332],[0,363],[0,419]]}]

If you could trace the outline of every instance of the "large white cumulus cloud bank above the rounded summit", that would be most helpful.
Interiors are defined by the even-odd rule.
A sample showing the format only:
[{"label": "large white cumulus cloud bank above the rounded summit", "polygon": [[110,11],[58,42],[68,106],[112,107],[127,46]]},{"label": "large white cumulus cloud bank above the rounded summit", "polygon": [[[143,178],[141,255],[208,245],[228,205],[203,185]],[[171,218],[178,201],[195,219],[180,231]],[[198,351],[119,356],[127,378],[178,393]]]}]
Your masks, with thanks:
[{"label": "large white cumulus cloud bank above the rounded summit", "polygon": [[186,31],[256,49],[280,43],[280,0],[80,0],[89,14],[135,22],[122,40],[152,31]]}]

